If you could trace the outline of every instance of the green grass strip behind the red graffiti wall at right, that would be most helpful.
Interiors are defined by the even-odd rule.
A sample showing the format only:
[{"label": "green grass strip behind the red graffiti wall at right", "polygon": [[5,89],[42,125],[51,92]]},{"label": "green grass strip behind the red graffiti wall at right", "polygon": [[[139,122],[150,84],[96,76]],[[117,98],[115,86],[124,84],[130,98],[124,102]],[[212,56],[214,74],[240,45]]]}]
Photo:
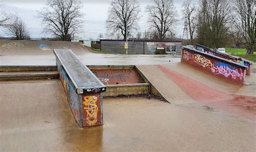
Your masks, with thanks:
[{"label": "green grass strip behind the red graffiti wall at right", "polygon": [[225,49],[227,54],[240,56],[246,60],[256,62],[256,52],[254,52],[253,55],[246,55],[245,48],[225,48]]}]

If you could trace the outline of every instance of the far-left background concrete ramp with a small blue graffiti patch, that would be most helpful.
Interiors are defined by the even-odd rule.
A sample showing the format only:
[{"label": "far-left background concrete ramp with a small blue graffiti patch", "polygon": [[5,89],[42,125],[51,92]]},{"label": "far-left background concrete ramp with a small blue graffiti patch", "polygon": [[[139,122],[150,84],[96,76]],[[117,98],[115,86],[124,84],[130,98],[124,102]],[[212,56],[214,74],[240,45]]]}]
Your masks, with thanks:
[{"label": "far-left background concrete ramp with a small blue graffiti patch", "polygon": [[53,55],[53,49],[72,49],[76,55],[90,53],[79,42],[0,40],[0,55]]}]

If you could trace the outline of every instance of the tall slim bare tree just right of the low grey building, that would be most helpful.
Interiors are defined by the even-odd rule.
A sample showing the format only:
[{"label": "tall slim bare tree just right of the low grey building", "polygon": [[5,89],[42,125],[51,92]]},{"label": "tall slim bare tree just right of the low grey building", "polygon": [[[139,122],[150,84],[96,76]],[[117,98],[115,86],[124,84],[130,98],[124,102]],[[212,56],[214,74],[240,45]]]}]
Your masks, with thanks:
[{"label": "tall slim bare tree just right of the low grey building", "polygon": [[[184,20],[184,32],[183,35],[190,35],[190,43],[193,45],[194,33],[197,27],[197,9],[196,4],[191,4],[191,0],[186,0],[182,4],[183,8],[183,20]],[[186,33],[185,33],[186,31]]]}]

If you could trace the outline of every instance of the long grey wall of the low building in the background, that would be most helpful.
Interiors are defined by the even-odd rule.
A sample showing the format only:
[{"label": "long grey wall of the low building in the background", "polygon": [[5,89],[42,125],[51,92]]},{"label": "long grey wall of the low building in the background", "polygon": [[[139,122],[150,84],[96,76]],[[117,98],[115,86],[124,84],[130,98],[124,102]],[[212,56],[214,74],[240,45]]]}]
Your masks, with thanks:
[{"label": "long grey wall of the low building in the background", "polygon": [[[114,54],[125,54],[123,40],[100,40],[101,50]],[[181,41],[129,41],[129,54],[155,54],[157,45],[176,45],[181,52]]]}]

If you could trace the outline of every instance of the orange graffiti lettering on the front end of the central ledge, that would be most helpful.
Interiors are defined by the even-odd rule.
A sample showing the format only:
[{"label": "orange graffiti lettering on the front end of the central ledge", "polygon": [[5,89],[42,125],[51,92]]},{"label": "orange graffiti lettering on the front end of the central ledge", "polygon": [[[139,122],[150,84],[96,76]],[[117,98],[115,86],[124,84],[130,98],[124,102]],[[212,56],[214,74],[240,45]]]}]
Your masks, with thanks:
[{"label": "orange graffiti lettering on the front end of the central ledge", "polygon": [[86,117],[86,122],[90,125],[93,126],[97,122],[97,114],[98,114],[98,106],[96,104],[98,100],[98,97],[96,96],[86,96],[84,97],[84,110],[87,113]]}]

